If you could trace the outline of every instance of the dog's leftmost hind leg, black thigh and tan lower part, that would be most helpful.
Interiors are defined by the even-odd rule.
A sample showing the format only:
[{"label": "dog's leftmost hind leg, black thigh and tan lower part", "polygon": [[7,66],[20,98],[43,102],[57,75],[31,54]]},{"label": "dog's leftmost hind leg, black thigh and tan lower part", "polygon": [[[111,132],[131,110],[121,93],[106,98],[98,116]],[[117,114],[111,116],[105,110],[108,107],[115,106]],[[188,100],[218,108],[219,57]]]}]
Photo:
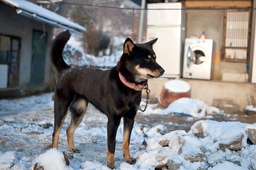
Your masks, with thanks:
[{"label": "dog's leftmost hind leg, black thigh and tan lower part", "polygon": [[57,149],[60,131],[67,116],[68,107],[73,100],[73,95],[68,94],[63,96],[62,93],[63,92],[61,90],[57,90],[54,96],[54,131],[52,148]]}]

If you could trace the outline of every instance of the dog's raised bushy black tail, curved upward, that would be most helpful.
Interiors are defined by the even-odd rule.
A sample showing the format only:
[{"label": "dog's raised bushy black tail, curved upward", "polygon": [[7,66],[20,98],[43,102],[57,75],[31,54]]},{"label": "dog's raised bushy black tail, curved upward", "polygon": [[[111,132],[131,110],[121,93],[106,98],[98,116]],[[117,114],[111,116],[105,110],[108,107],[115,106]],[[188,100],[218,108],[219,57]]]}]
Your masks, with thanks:
[{"label": "dog's raised bushy black tail, curved upward", "polygon": [[70,68],[62,57],[62,51],[66,43],[70,38],[70,32],[68,30],[59,33],[52,42],[51,58],[54,67],[60,73],[63,69]]}]

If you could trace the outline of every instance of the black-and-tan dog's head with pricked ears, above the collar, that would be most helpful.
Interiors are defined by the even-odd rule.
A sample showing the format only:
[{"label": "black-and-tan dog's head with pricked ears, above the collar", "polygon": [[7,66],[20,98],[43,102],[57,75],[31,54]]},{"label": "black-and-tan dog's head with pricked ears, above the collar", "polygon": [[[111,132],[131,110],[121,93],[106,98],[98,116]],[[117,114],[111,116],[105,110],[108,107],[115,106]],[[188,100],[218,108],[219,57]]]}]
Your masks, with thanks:
[{"label": "black-and-tan dog's head with pricked ears, above the collar", "polygon": [[127,38],[124,42],[122,59],[125,60],[126,69],[136,82],[160,77],[165,72],[156,62],[156,55],[152,48],[156,41],[157,38],[144,44],[134,44],[130,38]]}]

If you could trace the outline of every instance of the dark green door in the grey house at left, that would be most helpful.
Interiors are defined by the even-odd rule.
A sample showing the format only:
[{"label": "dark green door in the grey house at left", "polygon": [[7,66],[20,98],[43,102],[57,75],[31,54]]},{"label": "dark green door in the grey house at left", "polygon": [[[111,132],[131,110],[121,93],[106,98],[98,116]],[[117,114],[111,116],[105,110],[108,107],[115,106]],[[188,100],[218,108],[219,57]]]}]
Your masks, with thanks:
[{"label": "dark green door in the grey house at left", "polygon": [[33,30],[30,69],[31,88],[44,86],[47,35],[42,36],[43,34],[43,31]]}]

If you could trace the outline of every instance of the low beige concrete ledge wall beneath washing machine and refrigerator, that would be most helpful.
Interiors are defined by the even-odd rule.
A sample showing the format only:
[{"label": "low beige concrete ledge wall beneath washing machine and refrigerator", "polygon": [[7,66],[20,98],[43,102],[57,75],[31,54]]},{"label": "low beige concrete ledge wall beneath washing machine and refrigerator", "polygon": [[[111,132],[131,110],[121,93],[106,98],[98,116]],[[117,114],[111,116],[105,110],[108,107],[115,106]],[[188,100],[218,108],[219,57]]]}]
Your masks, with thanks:
[{"label": "low beige concrete ledge wall beneath washing machine and refrigerator", "polygon": [[[158,98],[168,78],[150,79],[148,88],[150,98]],[[191,98],[200,99],[207,105],[212,106],[213,98],[232,98],[235,104],[240,105],[240,111],[251,104],[250,96],[256,96],[256,84],[254,83],[231,83],[214,80],[186,79],[191,86]],[[145,91],[143,91],[145,97]]]}]

